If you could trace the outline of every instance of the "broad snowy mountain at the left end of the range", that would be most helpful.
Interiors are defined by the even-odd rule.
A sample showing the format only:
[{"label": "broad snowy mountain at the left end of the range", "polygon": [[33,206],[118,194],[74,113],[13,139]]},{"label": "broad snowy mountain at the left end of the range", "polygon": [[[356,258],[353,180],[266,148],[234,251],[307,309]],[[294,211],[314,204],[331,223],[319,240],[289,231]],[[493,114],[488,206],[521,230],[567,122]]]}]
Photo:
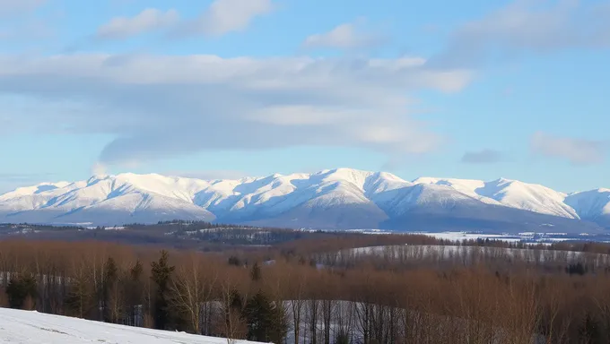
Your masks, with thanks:
[{"label": "broad snowy mountain at the left end of the range", "polygon": [[[87,182],[18,189],[0,196],[0,221],[120,225],[163,219],[213,220],[182,182],[163,176],[94,176]],[[47,186],[47,185],[44,185]],[[4,215],[4,219],[3,219]]]}]

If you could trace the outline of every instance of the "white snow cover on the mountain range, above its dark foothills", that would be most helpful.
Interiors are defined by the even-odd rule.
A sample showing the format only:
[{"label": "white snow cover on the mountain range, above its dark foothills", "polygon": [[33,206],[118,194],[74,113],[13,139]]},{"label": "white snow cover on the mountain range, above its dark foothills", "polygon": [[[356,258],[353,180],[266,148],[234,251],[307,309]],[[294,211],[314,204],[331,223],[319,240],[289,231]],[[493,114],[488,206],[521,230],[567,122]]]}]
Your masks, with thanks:
[{"label": "white snow cover on the mountain range, above its dark foothills", "polygon": [[343,205],[362,205],[391,217],[414,208],[453,209],[475,202],[568,219],[610,219],[607,189],[566,194],[505,178],[485,182],[421,177],[408,182],[385,172],[336,168],[237,180],[125,173],[44,183],[0,195],[0,222],[113,226],[170,219],[261,219],[298,207]]}]

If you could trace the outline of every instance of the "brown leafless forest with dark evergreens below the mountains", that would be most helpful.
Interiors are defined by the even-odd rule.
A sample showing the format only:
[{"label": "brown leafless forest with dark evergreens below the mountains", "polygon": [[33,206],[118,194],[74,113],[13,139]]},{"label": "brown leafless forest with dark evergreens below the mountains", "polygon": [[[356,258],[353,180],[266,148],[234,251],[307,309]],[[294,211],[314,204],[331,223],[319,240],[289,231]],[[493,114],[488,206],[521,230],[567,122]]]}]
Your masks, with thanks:
[{"label": "brown leafless forest with dark evergreens below the mountains", "polygon": [[610,245],[278,233],[213,252],[7,238],[0,306],[229,342],[610,341]]}]

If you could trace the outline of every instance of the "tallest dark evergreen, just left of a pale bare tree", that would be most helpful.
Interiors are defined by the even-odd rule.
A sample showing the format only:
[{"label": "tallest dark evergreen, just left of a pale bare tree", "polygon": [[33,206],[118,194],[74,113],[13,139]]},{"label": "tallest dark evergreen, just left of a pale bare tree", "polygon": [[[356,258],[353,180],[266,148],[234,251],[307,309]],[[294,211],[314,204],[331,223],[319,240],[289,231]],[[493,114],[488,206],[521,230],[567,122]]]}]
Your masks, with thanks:
[{"label": "tallest dark evergreen, just left of a pale bare tree", "polygon": [[170,311],[167,299],[167,292],[170,285],[171,273],[176,269],[170,266],[170,254],[162,250],[158,262],[151,263],[151,279],[157,285],[157,293],[154,300],[154,327],[158,330],[165,330],[170,323]]}]

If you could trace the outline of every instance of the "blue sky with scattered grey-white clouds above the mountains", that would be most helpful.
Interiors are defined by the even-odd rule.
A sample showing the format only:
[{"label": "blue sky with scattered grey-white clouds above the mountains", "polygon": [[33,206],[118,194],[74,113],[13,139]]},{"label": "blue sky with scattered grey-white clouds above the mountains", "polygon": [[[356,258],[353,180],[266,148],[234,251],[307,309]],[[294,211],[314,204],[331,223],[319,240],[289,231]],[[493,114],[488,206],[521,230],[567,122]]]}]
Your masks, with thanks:
[{"label": "blue sky with scattered grey-white clouds above the mountains", "polygon": [[0,192],[327,168],[610,187],[610,0],[0,0]]}]

